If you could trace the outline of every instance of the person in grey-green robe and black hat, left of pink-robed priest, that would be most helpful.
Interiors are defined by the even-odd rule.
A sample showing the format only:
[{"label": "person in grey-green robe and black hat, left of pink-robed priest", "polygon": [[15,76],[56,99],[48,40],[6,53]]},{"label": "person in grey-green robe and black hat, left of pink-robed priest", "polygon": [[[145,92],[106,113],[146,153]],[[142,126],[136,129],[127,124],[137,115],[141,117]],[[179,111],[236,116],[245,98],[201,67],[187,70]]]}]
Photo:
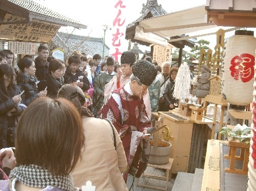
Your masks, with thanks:
[{"label": "person in grey-green robe and black hat, left of pink-robed priest", "polygon": [[113,71],[114,59],[112,57],[107,57],[106,65],[107,71],[100,73],[94,81],[94,94],[92,100],[92,114],[94,116],[98,114],[98,111],[103,106],[105,85],[110,82],[113,76],[116,76],[115,71]]}]

